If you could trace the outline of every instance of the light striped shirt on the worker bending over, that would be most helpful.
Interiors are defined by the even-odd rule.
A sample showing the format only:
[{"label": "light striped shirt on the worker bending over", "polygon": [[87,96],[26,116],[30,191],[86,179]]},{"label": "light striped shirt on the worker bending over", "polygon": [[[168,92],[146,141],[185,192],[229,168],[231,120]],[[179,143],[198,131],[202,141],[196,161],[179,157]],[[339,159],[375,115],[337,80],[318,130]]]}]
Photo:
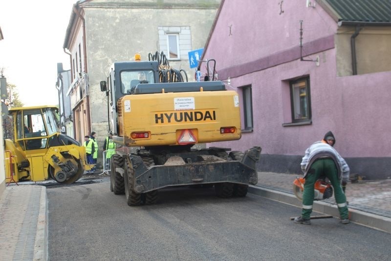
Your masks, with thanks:
[{"label": "light striped shirt on the worker bending over", "polygon": [[344,158],[342,158],[338,152],[329,144],[325,142],[315,142],[305,150],[305,155],[300,164],[304,173],[308,171],[308,163],[312,163],[312,159],[316,158],[319,154],[331,154],[332,158],[335,158],[335,165],[339,168],[338,173],[342,173],[341,178],[343,182],[348,182],[350,169]]}]

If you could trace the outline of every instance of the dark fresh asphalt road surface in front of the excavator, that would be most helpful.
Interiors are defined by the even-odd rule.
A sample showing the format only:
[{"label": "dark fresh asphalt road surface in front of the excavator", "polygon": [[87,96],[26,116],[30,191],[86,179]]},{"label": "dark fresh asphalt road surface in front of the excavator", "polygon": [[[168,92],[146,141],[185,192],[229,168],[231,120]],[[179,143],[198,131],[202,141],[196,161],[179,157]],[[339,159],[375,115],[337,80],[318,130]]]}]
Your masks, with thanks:
[{"label": "dark fresh asphalt road surface in front of the excavator", "polygon": [[214,189],[159,190],[156,204],[129,207],[109,179],[53,187],[48,259],[68,260],[390,260],[391,234],[335,218],[294,224],[297,207]]}]

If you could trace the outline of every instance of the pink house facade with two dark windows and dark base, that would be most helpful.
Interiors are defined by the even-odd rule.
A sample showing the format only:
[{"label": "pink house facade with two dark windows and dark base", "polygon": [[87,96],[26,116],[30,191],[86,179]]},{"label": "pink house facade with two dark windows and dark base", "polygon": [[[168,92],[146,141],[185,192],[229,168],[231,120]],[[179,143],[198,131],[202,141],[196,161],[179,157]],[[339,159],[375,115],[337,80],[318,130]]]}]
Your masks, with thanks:
[{"label": "pink house facade with two dark windows and dark base", "polygon": [[390,179],[391,26],[357,30],[325,3],[222,1],[202,59],[238,92],[242,137],[211,145],[259,145],[259,170],[300,173],[305,149],[331,130],[351,175]]}]

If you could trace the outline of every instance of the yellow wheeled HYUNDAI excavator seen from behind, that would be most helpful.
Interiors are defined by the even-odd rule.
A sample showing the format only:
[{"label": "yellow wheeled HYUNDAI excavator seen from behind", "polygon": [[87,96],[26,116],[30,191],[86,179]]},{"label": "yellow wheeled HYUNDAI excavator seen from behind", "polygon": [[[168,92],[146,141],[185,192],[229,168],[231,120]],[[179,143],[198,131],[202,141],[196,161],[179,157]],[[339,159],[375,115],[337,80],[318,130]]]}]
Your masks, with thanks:
[{"label": "yellow wheeled HYUNDAI excavator seen from behind", "polygon": [[180,71],[162,64],[168,63],[164,55],[155,57],[115,62],[100,83],[113,141],[134,151],[111,157],[110,190],[125,194],[129,206],[152,204],[159,189],[184,185],[214,186],[219,197],[245,196],[258,182],[261,147],[244,153],[193,147],[240,139],[239,95],[221,81],[183,82]]}]

